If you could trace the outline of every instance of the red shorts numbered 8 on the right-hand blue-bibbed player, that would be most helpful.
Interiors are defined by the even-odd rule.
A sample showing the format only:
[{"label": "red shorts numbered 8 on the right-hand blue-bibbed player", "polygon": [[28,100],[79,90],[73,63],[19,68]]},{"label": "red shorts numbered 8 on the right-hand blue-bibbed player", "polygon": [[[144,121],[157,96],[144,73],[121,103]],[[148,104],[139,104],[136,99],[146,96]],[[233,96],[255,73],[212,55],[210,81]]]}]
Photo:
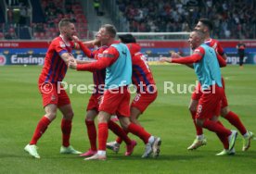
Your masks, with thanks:
[{"label": "red shorts numbered 8 on the right-hand blue-bibbed player", "polygon": [[[215,91],[212,90],[214,88]],[[218,85],[212,85],[210,90],[203,91],[198,101],[196,118],[205,119],[212,118],[213,116],[219,116],[223,96],[224,89]]]}]

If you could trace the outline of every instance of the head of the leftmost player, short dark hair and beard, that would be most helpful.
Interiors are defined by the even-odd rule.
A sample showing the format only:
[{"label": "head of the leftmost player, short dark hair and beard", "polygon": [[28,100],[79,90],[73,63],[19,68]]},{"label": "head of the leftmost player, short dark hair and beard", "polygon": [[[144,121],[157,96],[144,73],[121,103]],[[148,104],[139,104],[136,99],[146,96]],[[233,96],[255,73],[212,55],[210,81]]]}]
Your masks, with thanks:
[{"label": "head of the leftmost player, short dark hair and beard", "polygon": [[76,33],[75,26],[70,19],[61,19],[58,22],[58,30],[68,40],[72,40],[72,36]]}]

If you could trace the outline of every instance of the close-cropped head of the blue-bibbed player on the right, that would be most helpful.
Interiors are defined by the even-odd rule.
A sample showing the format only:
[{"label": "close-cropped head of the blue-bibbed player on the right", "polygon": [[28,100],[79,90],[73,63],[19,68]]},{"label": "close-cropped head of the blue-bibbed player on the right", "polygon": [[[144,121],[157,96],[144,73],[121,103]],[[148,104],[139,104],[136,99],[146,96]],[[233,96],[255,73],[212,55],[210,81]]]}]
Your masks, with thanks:
[{"label": "close-cropped head of the blue-bibbed player on the right", "polygon": [[192,49],[196,49],[200,44],[204,42],[204,38],[204,32],[195,30],[190,33],[188,43]]}]

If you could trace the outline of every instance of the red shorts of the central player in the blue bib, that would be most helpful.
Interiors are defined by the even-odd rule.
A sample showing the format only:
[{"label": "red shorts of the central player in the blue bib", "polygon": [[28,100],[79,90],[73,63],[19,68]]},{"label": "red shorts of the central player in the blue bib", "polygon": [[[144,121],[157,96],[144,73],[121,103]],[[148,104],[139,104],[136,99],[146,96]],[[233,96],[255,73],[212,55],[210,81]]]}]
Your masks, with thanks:
[{"label": "red shorts of the central player in the blue bib", "polygon": [[127,86],[106,90],[98,111],[108,112],[118,117],[130,117],[130,93]]}]

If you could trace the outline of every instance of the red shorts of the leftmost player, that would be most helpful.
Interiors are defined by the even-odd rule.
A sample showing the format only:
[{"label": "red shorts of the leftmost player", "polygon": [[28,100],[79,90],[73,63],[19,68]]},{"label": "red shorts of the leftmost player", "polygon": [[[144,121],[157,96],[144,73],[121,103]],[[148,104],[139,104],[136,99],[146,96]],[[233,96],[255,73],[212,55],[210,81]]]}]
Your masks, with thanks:
[{"label": "red shorts of the leftmost player", "polygon": [[[39,92],[42,94],[43,106],[49,104],[60,106],[70,105],[70,97],[57,83],[44,82],[38,84]],[[59,88],[59,89],[58,89]]]}]

